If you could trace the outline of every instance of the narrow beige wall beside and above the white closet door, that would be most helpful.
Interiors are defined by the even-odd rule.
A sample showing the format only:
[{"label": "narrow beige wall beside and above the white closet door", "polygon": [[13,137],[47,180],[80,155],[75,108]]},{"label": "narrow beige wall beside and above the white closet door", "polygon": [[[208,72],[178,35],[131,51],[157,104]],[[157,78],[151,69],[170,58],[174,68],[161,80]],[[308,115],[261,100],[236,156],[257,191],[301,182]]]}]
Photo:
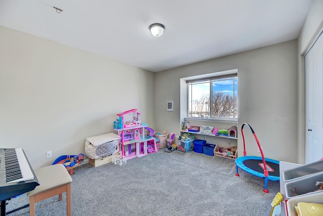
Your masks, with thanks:
[{"label": "narrow beige wall beside and above the white closet door", "polygon": [[298,154],[297,162],[305,162],[305,58],[304,55],[323,30],[323,1],[315,0],[298,37]]}]

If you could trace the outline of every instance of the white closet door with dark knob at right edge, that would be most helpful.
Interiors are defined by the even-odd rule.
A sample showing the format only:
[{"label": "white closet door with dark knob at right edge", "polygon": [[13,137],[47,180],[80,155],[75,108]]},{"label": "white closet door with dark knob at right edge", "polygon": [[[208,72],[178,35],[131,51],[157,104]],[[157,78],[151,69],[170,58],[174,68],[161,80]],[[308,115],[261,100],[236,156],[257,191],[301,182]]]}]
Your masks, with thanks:
[{"label": "white closet door with dark knob at right edge", "polygon": [[323,36],[305,56],[305,163],[323,158]]}]

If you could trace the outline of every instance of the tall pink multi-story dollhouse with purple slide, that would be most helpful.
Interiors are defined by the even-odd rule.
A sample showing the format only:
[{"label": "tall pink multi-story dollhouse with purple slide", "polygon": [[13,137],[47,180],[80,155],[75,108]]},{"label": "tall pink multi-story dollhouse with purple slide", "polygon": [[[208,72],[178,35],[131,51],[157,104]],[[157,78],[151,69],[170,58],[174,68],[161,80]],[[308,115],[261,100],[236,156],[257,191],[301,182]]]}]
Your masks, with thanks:
[{"label": "tall pink multi-story dollhouse with purple slide", "polygon": [[[114,122],[114,129],[120,139],[121,155],[127,159],[141,157],[152,152],[157,152],[155,138],[152,137],[154,130],[146,123],[141,123],[141,113],[137,109],[118,113]],[[145,131],[149,132],[145,135]]]}]

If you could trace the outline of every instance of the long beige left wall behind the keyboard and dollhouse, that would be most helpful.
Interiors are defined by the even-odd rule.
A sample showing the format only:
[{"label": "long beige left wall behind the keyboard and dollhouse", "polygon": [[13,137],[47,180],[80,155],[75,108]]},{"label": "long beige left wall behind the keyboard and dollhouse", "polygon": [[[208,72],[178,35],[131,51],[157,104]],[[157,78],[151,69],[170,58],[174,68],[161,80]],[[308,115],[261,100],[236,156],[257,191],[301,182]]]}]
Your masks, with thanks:
[{"label": "long beige left wall behind the keyboard and dollhouse", "polygon": [[154,73],[2,26],[0,35],[0,148],[23,148],[34,169],[84,153],[117,113],[137,108],[154,126]]}]

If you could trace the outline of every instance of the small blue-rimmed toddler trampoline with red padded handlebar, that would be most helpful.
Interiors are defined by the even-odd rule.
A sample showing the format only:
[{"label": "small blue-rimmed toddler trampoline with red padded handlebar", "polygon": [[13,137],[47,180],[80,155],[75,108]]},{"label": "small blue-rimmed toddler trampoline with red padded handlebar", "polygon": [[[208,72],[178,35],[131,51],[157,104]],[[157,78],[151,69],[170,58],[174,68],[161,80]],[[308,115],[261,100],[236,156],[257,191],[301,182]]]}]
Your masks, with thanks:
[{"label": "small blue-rimmed toddler trampoline with red padded handlebar", "polygon": [[[246,147],[245,147],[245,141],[244,141],[244,136],[243,136],[243,126],[247,125],[257,144],[258,144],[258,148],[260,150],[261,153],[261,157],[257,157],[257,156],[246,156]],[[279,181],[279,161],[278,160],[273,160],[273,159],[269,159],[269,158],[265,158],[263,156],[263,152],[262,149],[260,147],[258,138],[256,136],[256,134],[254,133],[252,127],[247,124],[247,123],[243,123],[241,126],[241,134],[242,134],[242,139],[243,139],[243,157],[238,157],[236,159],[236,176],[239,176],[238,173],[238,167],[241,168],[242,170],[248,172],[251,175],[254,175],[256,177],[259,178],[263,178],[264,179],[264,189],[263,192],[268,193],[268,189],[267,189],[267,183],[268,180],[270,181]]]}]

